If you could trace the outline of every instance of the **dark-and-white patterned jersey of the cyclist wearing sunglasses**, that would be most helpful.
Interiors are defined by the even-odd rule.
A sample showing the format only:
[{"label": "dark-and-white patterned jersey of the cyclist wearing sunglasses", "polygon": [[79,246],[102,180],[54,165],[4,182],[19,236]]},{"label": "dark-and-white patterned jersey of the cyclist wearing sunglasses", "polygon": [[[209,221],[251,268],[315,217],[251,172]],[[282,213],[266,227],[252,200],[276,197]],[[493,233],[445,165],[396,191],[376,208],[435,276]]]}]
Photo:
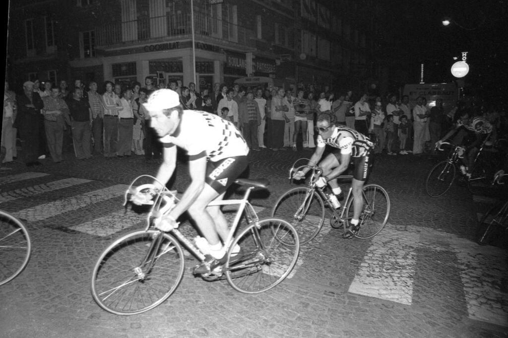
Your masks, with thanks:
[{"label": "dark-and-white patterned jersey of the cyclist wearing sunglasses", "polygon": [[354,129],[342,125],[332,128],[334,128],[332,136],[326,140],[321,135],[317,136],[317,146],[324,147],[328,144],[339,148],[341,154],[351,154],[351,157],[363,157],[368,154],[374,145],[367,136]]}]

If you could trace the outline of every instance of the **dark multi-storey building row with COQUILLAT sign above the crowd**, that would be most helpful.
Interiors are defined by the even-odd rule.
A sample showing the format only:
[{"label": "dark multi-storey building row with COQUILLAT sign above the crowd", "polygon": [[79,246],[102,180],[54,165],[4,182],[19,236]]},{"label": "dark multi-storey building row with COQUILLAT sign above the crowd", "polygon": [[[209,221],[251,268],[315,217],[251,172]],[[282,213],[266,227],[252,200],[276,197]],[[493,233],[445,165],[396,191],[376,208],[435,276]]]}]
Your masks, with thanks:
[{"label": "dark multi-storey building row with COQUILLAT sign above the crowd", "polygon": [[386,73],[382,14],[373,0],[17,0],[7,78],[363,90]]}]

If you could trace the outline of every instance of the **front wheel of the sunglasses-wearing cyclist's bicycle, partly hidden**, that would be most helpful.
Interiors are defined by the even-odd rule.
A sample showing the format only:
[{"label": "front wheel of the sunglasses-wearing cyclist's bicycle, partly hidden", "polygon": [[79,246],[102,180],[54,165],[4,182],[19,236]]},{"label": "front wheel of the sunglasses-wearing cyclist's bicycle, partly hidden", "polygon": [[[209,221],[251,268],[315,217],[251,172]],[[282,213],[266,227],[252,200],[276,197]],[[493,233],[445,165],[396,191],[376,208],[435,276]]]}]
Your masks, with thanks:
[{"label": "front wheel of the sunglasses-wearing cyclist's bicycle, partly hidden", "polygon": [[[302,214],[301,211],[304,210]],[[303,245],[316,237],[323,228],[325,204],[315,190],[299,186],[280,196],[272,209],[272,217],[281,218],[293,224],[298,232],[300,244]]]}]

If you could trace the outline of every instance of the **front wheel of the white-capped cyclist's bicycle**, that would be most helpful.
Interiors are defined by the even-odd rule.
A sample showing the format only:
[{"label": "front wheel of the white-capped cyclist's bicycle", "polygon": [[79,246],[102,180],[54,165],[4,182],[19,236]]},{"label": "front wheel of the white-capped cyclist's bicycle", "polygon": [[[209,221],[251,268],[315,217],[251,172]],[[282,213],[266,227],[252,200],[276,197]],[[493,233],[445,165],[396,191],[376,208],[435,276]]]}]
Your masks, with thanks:
[{"label": "front wheel of the white-capped cyclist's bicycle", "polygon": [[[154,243],[159,236],[160,243]],[[125,235],[108,246],[93,267],[93,299],[117,315],[151,310],[178,287],[183,259],[182,247],[169,234],[141,230]]]}]

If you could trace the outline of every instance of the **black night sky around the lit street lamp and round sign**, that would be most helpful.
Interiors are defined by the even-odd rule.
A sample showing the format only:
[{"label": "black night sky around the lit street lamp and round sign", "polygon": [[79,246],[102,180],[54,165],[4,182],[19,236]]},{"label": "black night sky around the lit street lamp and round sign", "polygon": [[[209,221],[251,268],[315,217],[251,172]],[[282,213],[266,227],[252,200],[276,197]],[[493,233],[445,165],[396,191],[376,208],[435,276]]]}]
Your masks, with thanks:
[{"label": "black night sky around the lit street lamp and round sign", "polygon": [[[396,42],[407,46],[408,58],[425,64],[425,82],[453,80],[453,56],[467,51],[469,74],[464,78],[471,91],[504,95],[508,73],[508,0],[384,0],[393,13]],[[449,17],[452,24],[441,25]],[[417,68],[416,68],[417,69]],[[418,71],[418,70],[417,70]]]}]

